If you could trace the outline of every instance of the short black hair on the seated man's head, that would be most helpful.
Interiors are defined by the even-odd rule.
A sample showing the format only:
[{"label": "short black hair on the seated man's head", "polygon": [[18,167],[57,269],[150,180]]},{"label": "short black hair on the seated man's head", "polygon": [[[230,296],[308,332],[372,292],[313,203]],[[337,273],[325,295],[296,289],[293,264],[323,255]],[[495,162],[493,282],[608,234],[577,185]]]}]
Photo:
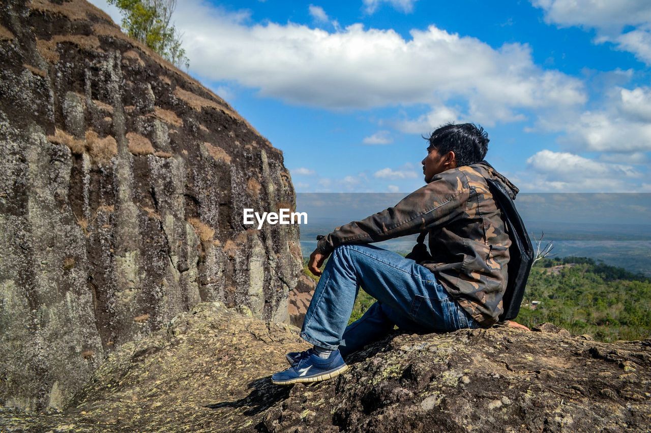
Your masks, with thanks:
[{"label": "short black hair on the seated man's head", "polygon": [[450,150],[456,156],[456,165],[475,164],[484,159],[488,151],[488,133],[475,124],[447,124],[439,127],[429,138],[429,148],[436,148],[439,153]]}]

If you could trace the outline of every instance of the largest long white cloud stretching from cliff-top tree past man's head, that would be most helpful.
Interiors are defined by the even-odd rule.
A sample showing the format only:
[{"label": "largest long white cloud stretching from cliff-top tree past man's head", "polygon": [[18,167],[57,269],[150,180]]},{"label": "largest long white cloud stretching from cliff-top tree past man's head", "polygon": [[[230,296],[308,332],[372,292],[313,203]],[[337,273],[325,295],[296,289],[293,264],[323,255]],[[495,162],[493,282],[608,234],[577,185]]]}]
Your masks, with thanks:
[{"label": "largest long white cloud stretching from cliff-top tree past man's head", "polygon": [[586,100],[579,79],[536,66],[527,45],[494,49],[434,25],[412,30],[409,38],[362,24],[333,31],[291,22],[249,25],[246,14],[199,0],[179,3],[174,18],[193,73],[298,105],[425,104],[435,112],[420,120],[426,123],[439,116],[437,107],[454,100],[467,107],[457,117],[490,125],[519,120],[524,110]]}]

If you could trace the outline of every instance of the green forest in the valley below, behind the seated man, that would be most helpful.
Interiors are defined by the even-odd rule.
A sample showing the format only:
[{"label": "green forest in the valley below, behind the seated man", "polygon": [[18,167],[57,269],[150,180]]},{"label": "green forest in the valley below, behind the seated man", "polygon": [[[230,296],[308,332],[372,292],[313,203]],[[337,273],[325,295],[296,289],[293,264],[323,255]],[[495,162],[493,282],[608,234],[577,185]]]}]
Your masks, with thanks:
[{"label": "green forest in the valley below, behind the seated man", "polygon": [[[314,278],[307,265],[305,273]],[[360,290],[350,322],[373,302]],[[529,328],[551,322],[607,342],[645,339],[651,337],[651,279],[588,257],[541,259],[516,321]]]}]

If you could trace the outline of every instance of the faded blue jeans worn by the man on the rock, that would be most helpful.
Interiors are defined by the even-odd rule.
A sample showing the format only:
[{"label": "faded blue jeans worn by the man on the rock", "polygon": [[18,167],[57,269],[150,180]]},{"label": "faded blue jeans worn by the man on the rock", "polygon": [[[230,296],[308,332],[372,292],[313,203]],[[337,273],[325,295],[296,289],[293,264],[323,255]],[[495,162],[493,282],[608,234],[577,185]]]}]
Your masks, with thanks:
[{"label": "faded blue jeans worn by the man on the rock", "polygon": [[[346,326],[360,286],[378,302]],[[419,334],[479,328],[426,267],[377,246],[335,248],[314,289],[301,337],[346,356],[383,338],[394,325]]]}]

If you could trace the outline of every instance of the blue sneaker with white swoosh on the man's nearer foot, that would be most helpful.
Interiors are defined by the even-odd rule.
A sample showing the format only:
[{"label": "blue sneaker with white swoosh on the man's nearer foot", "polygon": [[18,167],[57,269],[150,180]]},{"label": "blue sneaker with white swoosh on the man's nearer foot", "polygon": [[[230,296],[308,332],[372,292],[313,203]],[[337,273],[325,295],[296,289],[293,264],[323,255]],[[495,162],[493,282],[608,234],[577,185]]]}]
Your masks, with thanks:
[{"label": "blue sneaker with white swoosh on the man's nearer foot", "polygon": [[271,383],[276,385],[291,385],[308,382],[321,382],[331,379],[348,370],[344,358],[335,350],[327,360],[319,358],[316,354],[310,354],[301,358],[296,365],[292,365],[285,371],[273,374]]}]

